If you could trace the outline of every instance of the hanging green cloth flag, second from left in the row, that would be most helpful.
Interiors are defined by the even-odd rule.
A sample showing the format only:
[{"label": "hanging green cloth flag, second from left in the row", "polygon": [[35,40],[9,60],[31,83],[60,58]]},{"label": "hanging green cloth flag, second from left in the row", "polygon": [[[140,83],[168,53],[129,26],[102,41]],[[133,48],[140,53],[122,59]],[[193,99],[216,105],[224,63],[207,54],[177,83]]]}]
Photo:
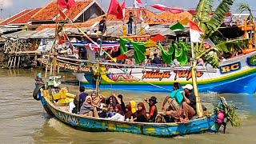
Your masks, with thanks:
[{"label": "hanging green cloth flag, second from left in the row", "polygon": [[131,42],[134,46],[134,59],[135,63],[144,62],[146,59],[146,47],[145,42]]}]

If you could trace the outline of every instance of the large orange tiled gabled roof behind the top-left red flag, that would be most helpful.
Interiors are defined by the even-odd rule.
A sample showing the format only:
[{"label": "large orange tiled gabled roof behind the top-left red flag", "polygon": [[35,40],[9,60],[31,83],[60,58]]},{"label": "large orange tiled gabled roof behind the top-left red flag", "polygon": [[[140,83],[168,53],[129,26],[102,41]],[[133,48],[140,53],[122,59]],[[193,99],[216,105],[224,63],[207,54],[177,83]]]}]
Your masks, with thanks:
[{"label": "large orange tiled gabled roof behind the top-left red flag", "polygon": [[[90,6],[94,0],[86,0],[82,2],[76,2],[76,5],[71,7],[70,10],[62,9],[62,12],[65,13],[70,19],[74,19],[81,14],[82,10],[85,10],[87,6]],[[53,21],[54,18],[58,15],[58,6],[57,2],[50,2],[46,7],[39,10],[37,14],[30,19],[31,21]],[[58,20],[63,21],[64,18],[59,17]]]}]

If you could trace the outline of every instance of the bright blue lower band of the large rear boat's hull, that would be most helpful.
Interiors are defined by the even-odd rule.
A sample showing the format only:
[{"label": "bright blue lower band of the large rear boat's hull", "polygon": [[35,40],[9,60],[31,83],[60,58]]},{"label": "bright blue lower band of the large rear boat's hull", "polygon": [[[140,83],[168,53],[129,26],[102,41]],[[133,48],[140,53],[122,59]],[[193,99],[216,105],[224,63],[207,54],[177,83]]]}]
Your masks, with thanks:
[{"label": "bright blue lower band of the large rear boat's hull", "polygon": [[[95,88],[94,84],[81,83],[81,86],[87,88]],[[167,90],[172,90],[172,85],[159,85]],[[156,86],[148,84],[104,84],[101,83],[99,88],[114,89],[114,90],[142,90],[153,92],[167,92],[164,89],[159,89]],[[256,91],[256,73],[242,76],[241,78],[232,78],[221,82],[213,82],[206,84],[198,84],[200,93],[218,92],[218,93],[232,93],[232,94],[254,94]]]}]

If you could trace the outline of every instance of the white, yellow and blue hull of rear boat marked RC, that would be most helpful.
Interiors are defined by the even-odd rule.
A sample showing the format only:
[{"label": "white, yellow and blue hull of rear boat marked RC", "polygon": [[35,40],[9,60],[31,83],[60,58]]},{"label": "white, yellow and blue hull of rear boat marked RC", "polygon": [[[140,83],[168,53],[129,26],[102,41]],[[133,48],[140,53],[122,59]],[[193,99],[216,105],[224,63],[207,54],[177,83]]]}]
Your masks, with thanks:
[{"label": "white, yellow and blue hull of rear boat marked RC", "polygon": [[[256,52],[222,62],[216,73],[197,73],[199,92],[254,94],[256,90]],[[198,66],[198,69],[202,67]],[[209,68],[209,66],[207,67]],[[192,83],[190,68],[185,70],[152,70],[143,68],[102,67],[101,89],[114,90],[172,90],[174,82],[182,86]],[[124,72],[125,71],[125,72]],[[88,75],[86,76],[88,78]],[[95,87],[95,82],[81,82],[82,86]]]}]

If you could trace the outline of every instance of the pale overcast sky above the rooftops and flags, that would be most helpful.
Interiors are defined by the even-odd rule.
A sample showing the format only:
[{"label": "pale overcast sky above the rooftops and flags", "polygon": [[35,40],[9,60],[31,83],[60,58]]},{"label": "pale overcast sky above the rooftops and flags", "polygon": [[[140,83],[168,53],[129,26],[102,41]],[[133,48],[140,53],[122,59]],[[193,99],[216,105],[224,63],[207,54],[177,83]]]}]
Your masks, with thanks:
[{"label": "pale overcast sky above the rooftops and flags", "polygon": [[[36,8],[36,7],[42,7],[46,6],[47,3],[51,2],[52,0],[0,0],[0,18],[7,18],[10,15],[16,14],[21,10],[27,9],[27,8]],[[123,0],[118,0],[120,3]],[[142,0],[143,5],[145,6],[145,3],[147,2],[148,8],[150,10],[153,10],[154,12],[157,12],[158,10],[154,10],[150,8],[151,4],[162,4],[166,6],[179,6],[184,8],[194,8],[197,6],[199,0]],[[215,6],[216,3],[218,3],[220,0],[214,0]],[[247,2],[252,10],[254,11],[254,14],[256,14],[256,0],[236,0],[234,6],[232,7],[232,12],[237,13],[236,9],[238,7],[238,4],[241,2]],[[98,2],[101,4],[106,10],[110,4],[110,0],[98,0]],[[133,6],[134,0],[126,0],[126,7]]]}]

